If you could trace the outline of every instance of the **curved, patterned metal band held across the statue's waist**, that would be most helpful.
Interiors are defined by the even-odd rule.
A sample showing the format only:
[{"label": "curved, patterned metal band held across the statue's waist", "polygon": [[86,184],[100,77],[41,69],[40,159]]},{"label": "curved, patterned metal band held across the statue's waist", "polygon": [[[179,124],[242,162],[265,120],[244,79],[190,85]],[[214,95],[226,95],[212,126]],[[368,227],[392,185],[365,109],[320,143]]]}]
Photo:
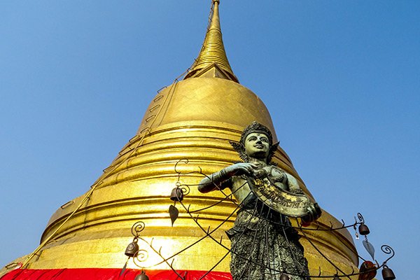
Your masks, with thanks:
[{"label": "curved, patterned metal band held across the statue's waist", "polygon": [[301,218],[308,214],[310,202],[306,195],[281,190],[268,179],[247,177],[251,191],[267,207],[290,217]]}]

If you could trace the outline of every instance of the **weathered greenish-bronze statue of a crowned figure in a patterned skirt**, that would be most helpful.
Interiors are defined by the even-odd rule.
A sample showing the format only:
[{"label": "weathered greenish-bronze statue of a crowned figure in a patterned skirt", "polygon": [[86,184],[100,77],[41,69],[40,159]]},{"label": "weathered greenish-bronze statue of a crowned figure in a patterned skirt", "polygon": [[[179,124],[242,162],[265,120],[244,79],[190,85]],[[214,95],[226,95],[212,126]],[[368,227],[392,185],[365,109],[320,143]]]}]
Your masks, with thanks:
[{"label": "weathered greenish-bronze statue of a crowned figure in a patterned skirt", "polygon": [[[293,280],[309,279],[300,236],[286,215],[301,216],[310,223],[321,215],[321,209],[309,202],[292,175],[271,163],[278,143],[272,144],[267,127],[253,122],[242,132],[240,142],[231,144],[244,162],[211,174],[198,190],[230,188],[240,207],[233,228],[226,232],[233,280],[279,280],[282,273]],[[289,214],[297,208],[300,214]]]}]

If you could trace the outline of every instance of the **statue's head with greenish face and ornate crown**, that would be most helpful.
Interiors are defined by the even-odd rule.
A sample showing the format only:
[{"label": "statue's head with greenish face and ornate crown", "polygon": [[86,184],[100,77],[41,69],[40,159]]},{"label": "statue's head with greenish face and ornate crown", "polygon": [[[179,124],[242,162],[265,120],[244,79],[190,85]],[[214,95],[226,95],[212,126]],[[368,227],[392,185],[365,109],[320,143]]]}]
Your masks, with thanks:
[{"label": "statue's head with greenish face and ornate crown", "polygon": [[267,163],[271,162],[272,156],[279,146],[279,143],[273,145],[272,132],[268,127],[255,121],[244,129],[239,143],[230,142],[230,144],[245,162],[248,162],[251,156],[265,160]]}]

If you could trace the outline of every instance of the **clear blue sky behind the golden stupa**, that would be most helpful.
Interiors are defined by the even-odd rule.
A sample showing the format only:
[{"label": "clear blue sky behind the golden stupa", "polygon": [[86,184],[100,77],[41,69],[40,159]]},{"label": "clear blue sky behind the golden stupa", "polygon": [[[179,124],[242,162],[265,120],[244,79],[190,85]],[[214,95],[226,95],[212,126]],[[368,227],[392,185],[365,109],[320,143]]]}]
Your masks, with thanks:
[{"label": "clear blue sky behind the golden stupa", "polygon": [[[210,1],[0,4],[0,264],[36,248],[137,131],[156,91],[197,56]],[[337,218],[360,211],[412,279],[420,246],[420,2],[221,3],[242,85]],[[361,240],[357,243],[361,243]],[[360,246],[360,254],[367,253]],[[379,276],[380,278],[380,276]]]}]

